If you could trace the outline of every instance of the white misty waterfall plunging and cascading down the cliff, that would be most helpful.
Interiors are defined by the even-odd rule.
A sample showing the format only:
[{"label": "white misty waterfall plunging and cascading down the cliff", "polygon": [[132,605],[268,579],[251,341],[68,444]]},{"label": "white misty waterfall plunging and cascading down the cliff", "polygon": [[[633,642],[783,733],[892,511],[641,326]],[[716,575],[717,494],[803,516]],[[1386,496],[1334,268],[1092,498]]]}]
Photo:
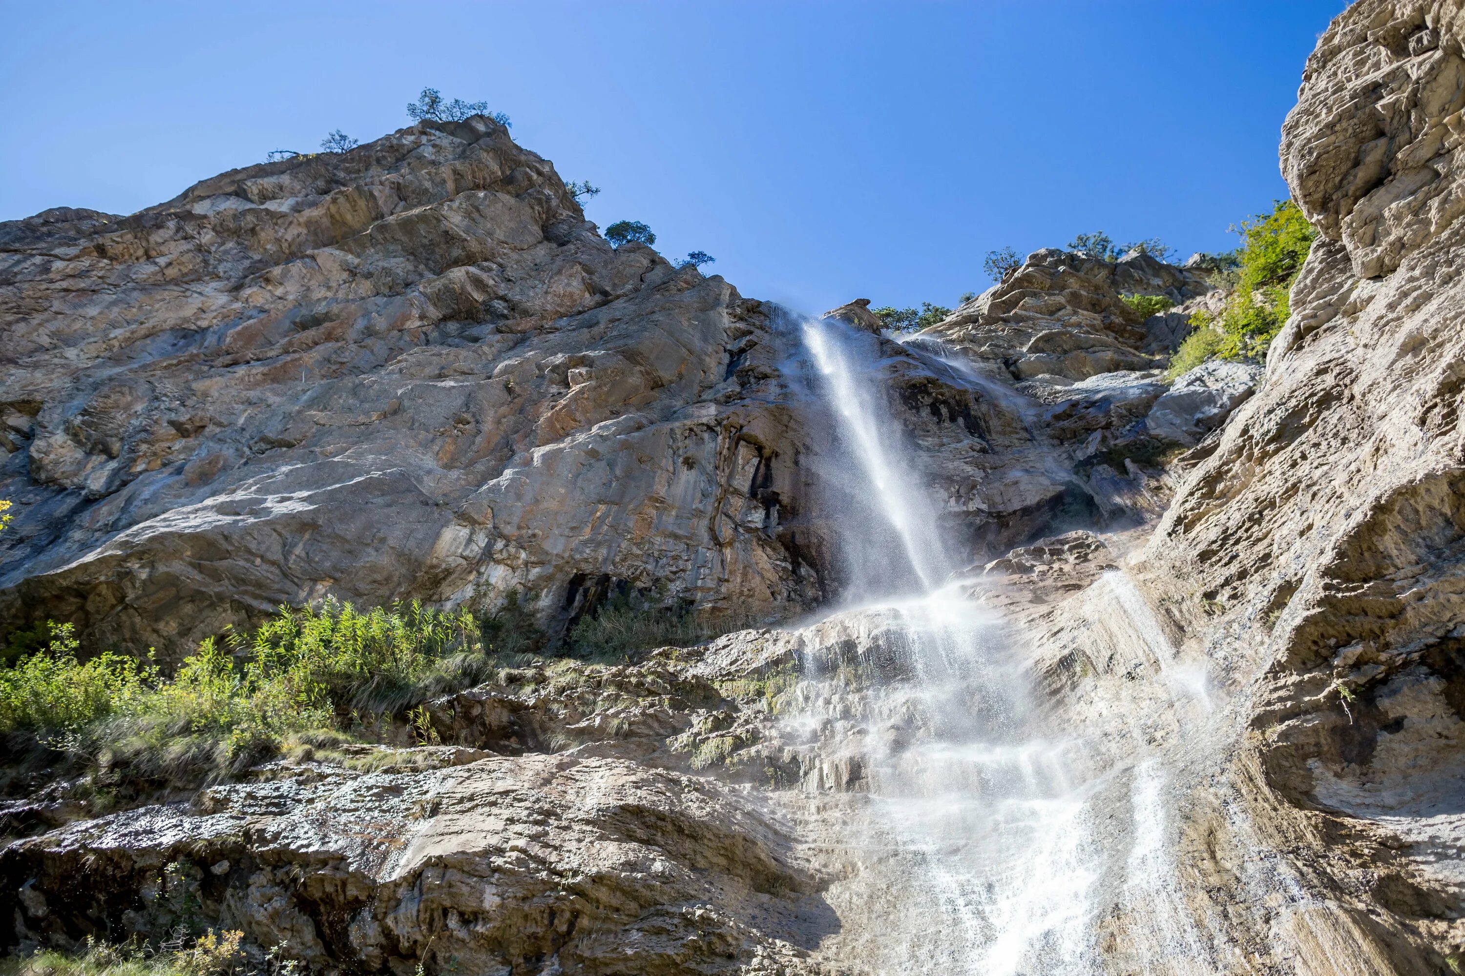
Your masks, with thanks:
[{"label": "white misty waterfall plunging and cascading down the cliff", "polygon": [[[1163,765],[1053,723],[1033,699],[1027,635],[983,606],[980,581],[951,578],[941,506],[880,383],[880,339],[829,320],[806,322],[803,338],[854,458],[842,474],[873,499],[845,514],[841,543],[888,560],[869,540],[892,536],[920,582],[914,594],[867,588],[801,632],[804,680],[785,726],[812,757],[809,817],[850,852],[829,896],[845,920],[831,953],[892,976],[1112,972],[1100,941],[1122,904],[1127,972],[1207,972],[1209,942],[1175,881]],[[1128,578],[1110,574],[1086,596],[1137,667],[1157,679],[1175,669]],[[1124,717],[1112,737],[1134,724]]]}]

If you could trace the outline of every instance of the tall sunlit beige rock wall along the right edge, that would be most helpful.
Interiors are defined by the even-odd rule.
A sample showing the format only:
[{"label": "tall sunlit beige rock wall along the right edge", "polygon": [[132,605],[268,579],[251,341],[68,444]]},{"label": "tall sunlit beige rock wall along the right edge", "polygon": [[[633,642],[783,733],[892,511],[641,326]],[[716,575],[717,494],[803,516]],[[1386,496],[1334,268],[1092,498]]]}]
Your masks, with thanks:
[{"label": "tall sunlit beige rock wall along the right edge", "polygon": [[1236,777],[1327,893],[1286,925],[1335,972],[1465,950],[1462,44],[1465,6],[1408,0],[1360,0],[1318,41],[1282,167],[1321,237],[1146,559],[1250,702]]}]

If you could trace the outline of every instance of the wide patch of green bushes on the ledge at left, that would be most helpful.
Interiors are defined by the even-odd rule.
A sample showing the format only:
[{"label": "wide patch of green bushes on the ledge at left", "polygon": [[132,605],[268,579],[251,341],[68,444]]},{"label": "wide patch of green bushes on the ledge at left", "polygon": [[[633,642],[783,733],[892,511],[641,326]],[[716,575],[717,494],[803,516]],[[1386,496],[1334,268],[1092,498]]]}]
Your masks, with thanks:
[{"label": "wide patch of green bushes on the ledge at left", "polygon": [[[171,677],[114,653],[79,660],[70,625],[0,670],[0,732],[31,732],[145,778],[240,771],[312,730],[410,724],[423,701],[494,672],[478,622],[420,603],[281,609],[252,635],[205,639]],[[420,724],[420,714],[416,724]]]}]

